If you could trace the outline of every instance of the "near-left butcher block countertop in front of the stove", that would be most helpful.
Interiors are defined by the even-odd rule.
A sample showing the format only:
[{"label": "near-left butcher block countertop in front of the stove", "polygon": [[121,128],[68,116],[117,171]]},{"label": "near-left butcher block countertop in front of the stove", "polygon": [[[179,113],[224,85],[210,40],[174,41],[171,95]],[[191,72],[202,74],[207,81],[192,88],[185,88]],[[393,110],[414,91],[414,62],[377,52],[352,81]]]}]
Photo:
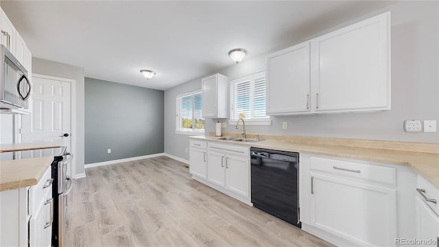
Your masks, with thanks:
[{"label": "near-left butcher block countertop in front of the stove", "polygon": [[36,185],[54,157],[24,158],[0,162],[0,191]]}]

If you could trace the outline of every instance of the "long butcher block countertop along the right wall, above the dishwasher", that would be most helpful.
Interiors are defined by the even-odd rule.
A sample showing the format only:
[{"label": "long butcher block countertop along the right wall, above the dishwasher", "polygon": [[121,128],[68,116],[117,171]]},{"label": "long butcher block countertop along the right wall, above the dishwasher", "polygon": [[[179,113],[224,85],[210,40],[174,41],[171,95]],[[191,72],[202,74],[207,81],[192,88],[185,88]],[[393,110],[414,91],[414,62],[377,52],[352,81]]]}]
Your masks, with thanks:
[{"label": "long butcher block countertop along the right wall, above the dishwasher", "polygon": [[[224,136],[236,136],[226,134]],[[255,138],[254,134],[247,134]],[[263,141],[242,143],[217,140],[215,137],[190,137],[194,140],[215,141],[233,145],[246,145],[254,148],[266,148],[307,154],[318,154],[339,158],[352,158],[394,165],[407,165],[423,176],[432,185],[439,188],[439,144],[407,143],[397,141],[372,141],[357,139],[335,139],[322,137],[263,136]]]}]

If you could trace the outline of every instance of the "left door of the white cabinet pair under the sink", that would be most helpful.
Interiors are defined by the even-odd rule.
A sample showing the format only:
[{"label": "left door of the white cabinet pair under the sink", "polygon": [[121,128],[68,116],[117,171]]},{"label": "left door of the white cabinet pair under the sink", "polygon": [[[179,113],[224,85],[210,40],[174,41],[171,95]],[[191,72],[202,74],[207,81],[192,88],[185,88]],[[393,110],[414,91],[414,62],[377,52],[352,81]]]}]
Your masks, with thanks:
[{"label": "left door of the white cabinet pair under the sink", "polygon": [[207,180],[221,187],[225,186],[225,159],[226,155],[209,151],[207,154]]}]

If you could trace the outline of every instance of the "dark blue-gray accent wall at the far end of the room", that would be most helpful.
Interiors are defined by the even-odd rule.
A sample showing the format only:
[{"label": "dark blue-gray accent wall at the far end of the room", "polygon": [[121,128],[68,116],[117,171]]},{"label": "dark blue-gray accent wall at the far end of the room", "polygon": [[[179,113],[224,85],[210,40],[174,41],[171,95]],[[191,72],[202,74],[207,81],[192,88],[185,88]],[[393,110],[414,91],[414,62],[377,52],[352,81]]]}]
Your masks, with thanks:
[{"label": "dark blue-gray accent wall at the far end of the room", "polygon": [[163,153],[163,113],[163,91],[85,78],[86,164]]}]

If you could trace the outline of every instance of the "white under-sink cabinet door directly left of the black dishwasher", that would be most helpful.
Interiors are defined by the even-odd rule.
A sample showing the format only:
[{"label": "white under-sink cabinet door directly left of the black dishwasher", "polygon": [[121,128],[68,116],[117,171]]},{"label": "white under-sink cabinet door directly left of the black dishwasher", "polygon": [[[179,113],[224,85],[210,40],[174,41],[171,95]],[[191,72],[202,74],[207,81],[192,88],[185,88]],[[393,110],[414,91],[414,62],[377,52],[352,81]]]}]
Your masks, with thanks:
[{"label": "white under-sink cabinet door directly left of the black dishwasher", "polygon": [[250,198],[250,161],[248,158],[226,156],[226,188]]}]

